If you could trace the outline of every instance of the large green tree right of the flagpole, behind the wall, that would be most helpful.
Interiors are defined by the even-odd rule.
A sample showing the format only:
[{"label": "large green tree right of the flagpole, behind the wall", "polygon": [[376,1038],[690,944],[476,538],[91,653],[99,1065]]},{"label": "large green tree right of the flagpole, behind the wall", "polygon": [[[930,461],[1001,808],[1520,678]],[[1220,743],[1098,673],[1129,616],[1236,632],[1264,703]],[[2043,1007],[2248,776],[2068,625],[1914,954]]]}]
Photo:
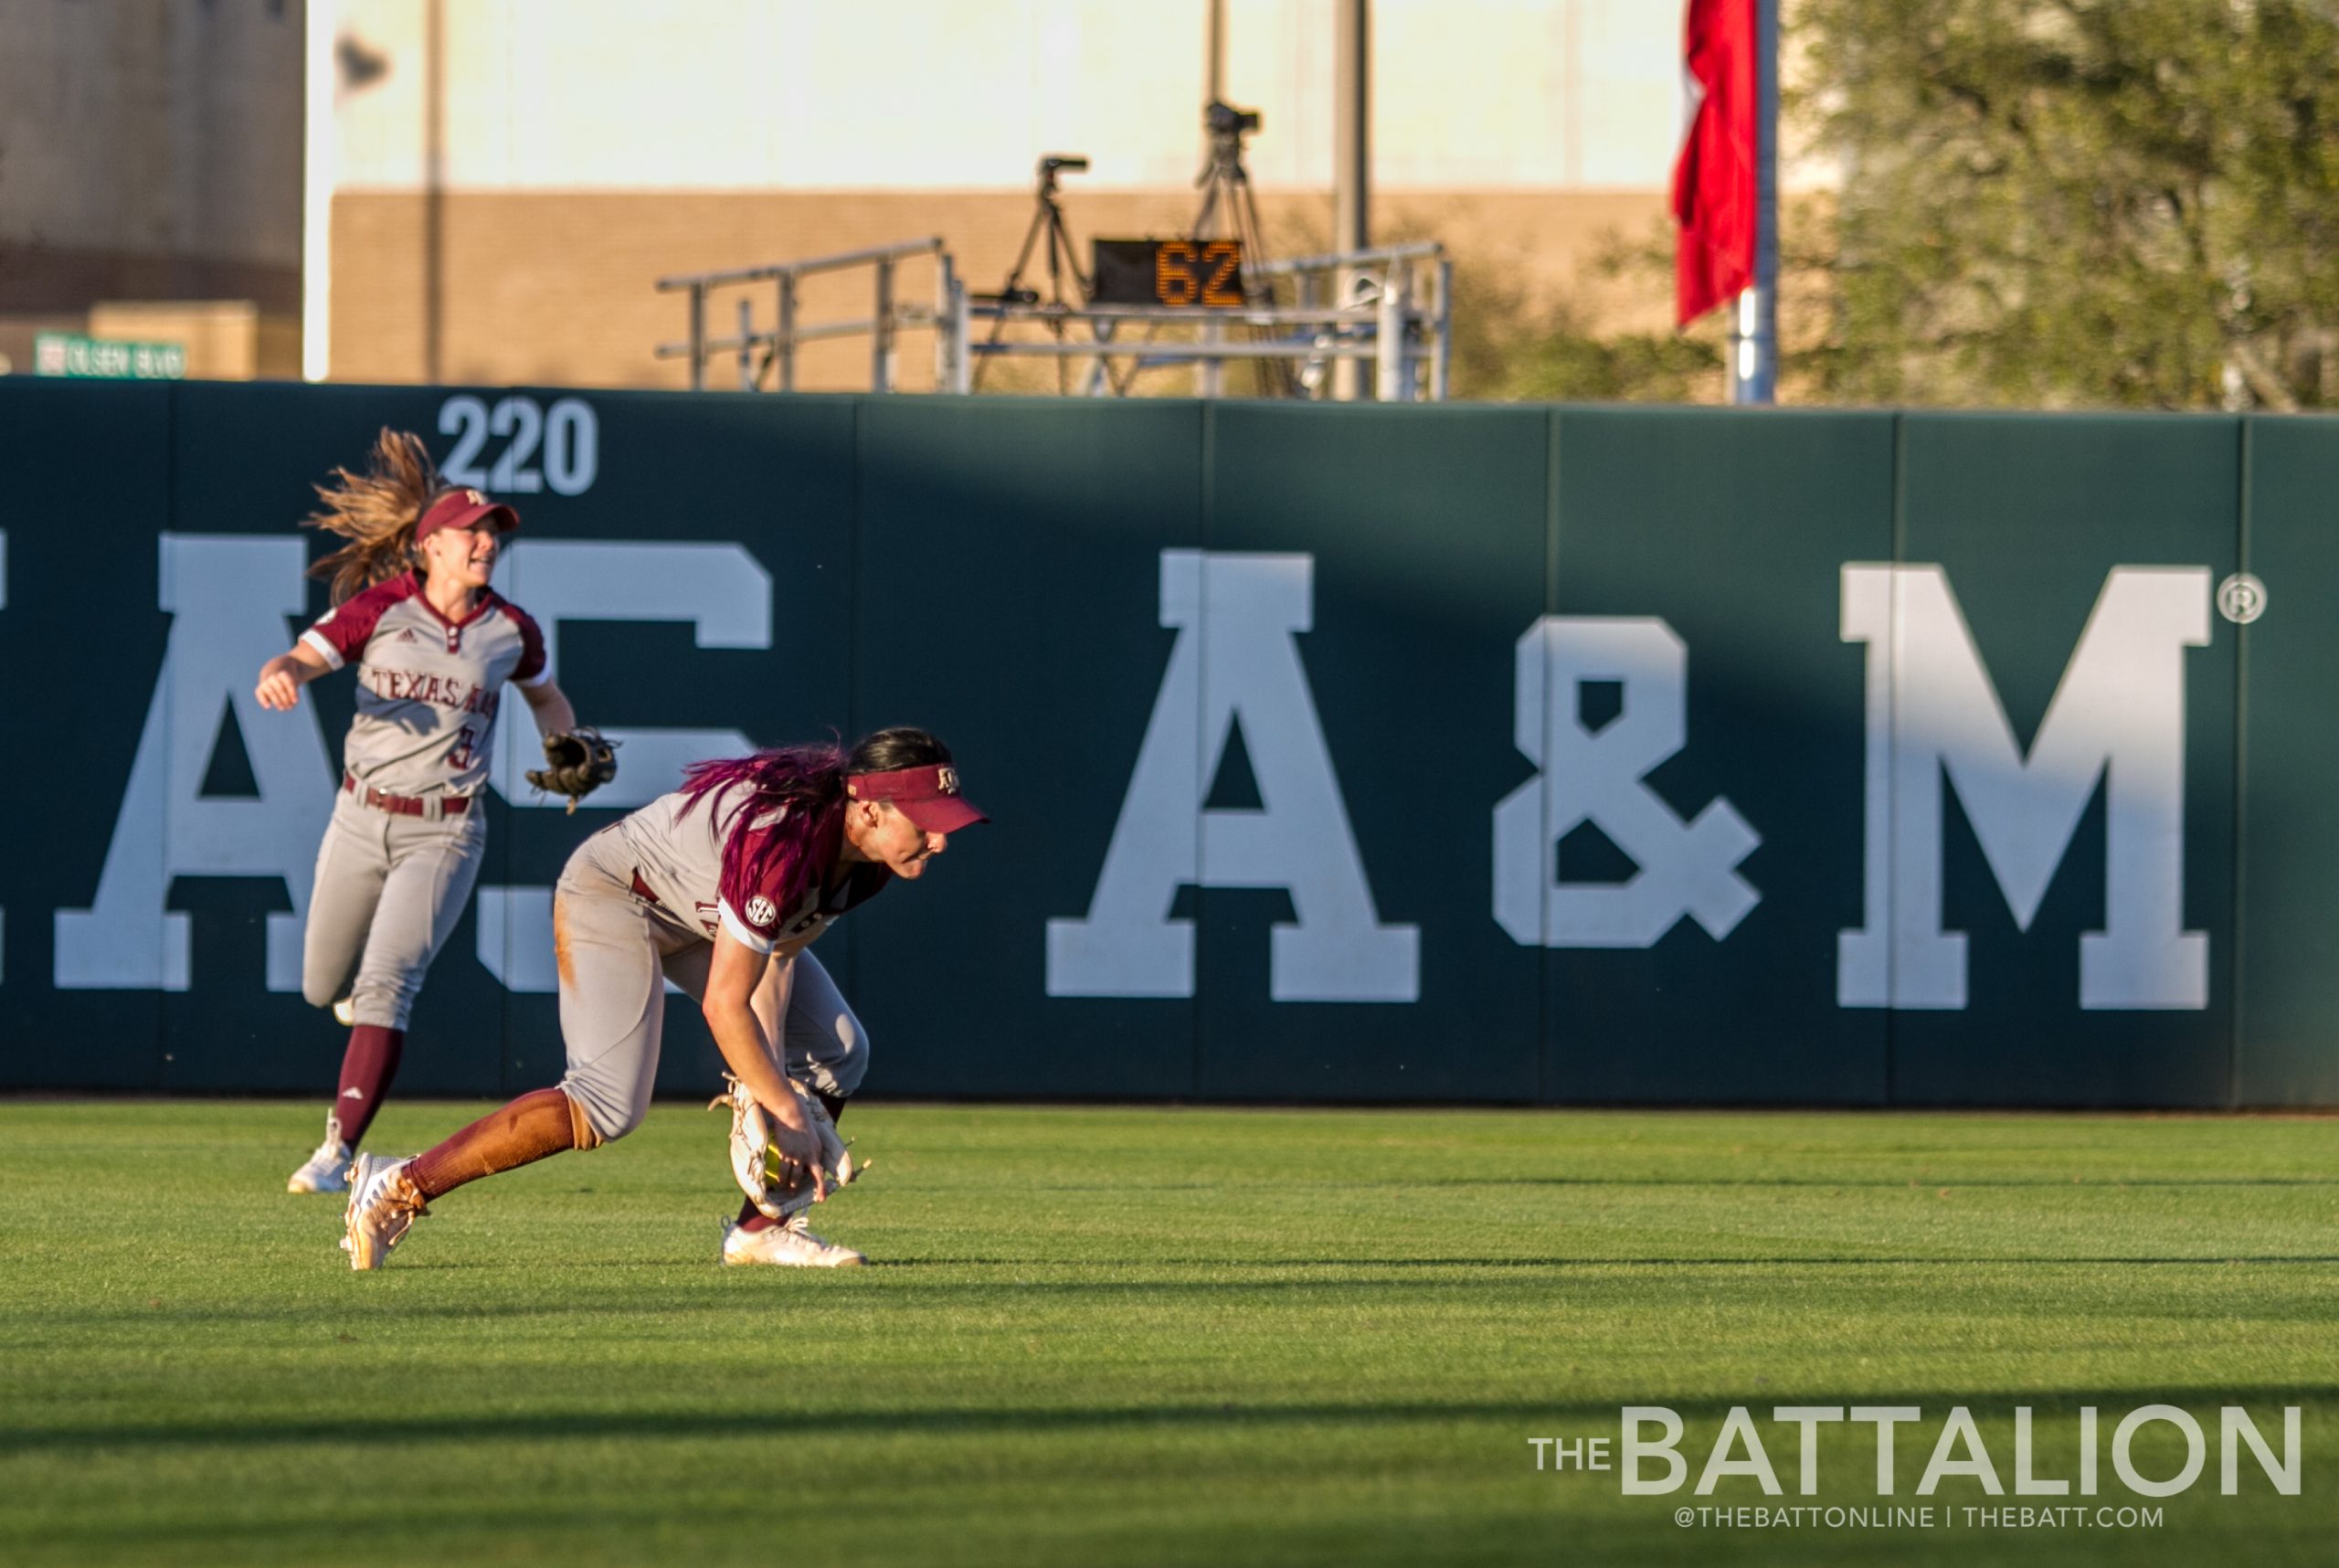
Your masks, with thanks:
[{"label": "large green tree right of the flagpole, behind the wall", "polygon": [[1787,47],[1822,396],[2339,405],[2332,0],[1799,0]]}]

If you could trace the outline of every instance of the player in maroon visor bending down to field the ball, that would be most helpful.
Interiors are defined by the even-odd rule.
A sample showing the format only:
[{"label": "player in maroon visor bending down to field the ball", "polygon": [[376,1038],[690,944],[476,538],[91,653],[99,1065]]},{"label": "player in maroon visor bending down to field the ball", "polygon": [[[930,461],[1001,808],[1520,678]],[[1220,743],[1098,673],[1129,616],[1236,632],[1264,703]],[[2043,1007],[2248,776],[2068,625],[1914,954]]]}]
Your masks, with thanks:
[{"label": "player in maroon visor bending down to field the ball", "polygon": [[[435,1149],[351,1170],[353,1268],[381,1268],[426,1203],[561,1149],[641,1126],[657,1079],[660,981],[692,995],[732,1074],[770,1114],[784,1161],[812,1175],[819,1142],[791,1079],[830,1116],[868,1070],[868,1037],[805,948],[893,878],[917,880],[950,833],[985,821],[950,749],[924,730],[879,730],[849,754],[784,747],[697,763],[683,789],[587,838],[552,894],[568,1072]],[[753,1203],[723,1229],[725,1264],[835,1268],[851,1247],[802,1215]]]}]

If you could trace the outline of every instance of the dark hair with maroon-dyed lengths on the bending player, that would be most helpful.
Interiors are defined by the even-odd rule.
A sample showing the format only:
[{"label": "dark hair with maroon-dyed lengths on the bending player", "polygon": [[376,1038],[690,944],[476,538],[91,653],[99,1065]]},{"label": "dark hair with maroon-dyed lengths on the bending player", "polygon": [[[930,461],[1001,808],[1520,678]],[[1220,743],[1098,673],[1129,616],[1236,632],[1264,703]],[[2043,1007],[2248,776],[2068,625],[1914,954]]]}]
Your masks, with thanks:
[{"label": "dark hair with maroon-dyed lengths on the bending player", "polygon": [[732,789],[748,791],[739,821],[786,810],[748,873],[758,885],[777,873],[779,908],[795,908],[805,892],[826,882],[837,864],[837,850],[844,845],[844,779],[947,763],[950,747],[926,730],[908,725],[877,730],[851,751],[837,742],[770,747],[753,756],[690,763],[683,770],[683,793],[688,796],[683,814],[688,817],[699,800],[709,798],[706,810],[720,812]]}]

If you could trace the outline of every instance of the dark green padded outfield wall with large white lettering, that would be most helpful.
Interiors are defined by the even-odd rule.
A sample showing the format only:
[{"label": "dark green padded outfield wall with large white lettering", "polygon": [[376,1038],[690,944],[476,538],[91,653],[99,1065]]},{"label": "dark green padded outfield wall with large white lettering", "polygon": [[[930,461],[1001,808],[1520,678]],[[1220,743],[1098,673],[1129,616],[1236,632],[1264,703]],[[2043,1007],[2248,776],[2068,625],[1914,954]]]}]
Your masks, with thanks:
[{"label": "dark green padded outfield wall with large white lettering", "polygon": [[870,1093],[2339,1102],[2339,421],[26,379],[0,1088],[330,1086],[351,683],[250,688],[381,424],[627,742],[568,817],[505,725],[405,1093],[557,1077],[547,889],[685,761],[922,723],[994,824],[821,943]]}]

